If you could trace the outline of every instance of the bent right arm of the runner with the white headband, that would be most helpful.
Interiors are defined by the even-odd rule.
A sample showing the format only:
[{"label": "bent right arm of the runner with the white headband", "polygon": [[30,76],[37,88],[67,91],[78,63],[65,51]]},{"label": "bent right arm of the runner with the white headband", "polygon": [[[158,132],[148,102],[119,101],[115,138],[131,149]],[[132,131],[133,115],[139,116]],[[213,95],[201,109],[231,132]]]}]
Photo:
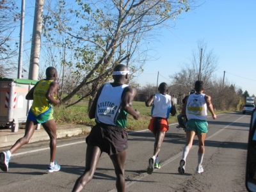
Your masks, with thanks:
[{"label": "bent right arm of the runner with the white headband", "polygon": [[136,89],[132,88],[131,86],[127,86],[123,93],[121,106],[127,113],[132,115],[134,119],[138,120],[138,118],[140,118],[140,112],[132,108],[132,101],[136,95],[136,92]]}]

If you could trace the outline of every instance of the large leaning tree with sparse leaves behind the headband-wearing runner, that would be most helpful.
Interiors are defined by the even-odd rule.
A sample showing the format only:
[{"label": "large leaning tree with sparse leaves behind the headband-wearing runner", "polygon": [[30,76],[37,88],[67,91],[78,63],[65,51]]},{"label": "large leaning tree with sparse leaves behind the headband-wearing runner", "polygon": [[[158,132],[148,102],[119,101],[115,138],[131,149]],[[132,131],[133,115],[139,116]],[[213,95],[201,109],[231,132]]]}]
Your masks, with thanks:
[{"label": "large leaning tree with sparse leaves behind the headband-wearing runner", "polygon": [[[45,41],[74,49],[79,84],[62,99],[66,102],[84,86],[98,88],[111,79],[115,65],[123,63],[134,73],[147,60],[147,44],[167,20],[195,6],[190,1],[48,1],[44,15]],[[95,93],[92,90],[92,93]],[[94,96],[94,95],[92,95]]]}]

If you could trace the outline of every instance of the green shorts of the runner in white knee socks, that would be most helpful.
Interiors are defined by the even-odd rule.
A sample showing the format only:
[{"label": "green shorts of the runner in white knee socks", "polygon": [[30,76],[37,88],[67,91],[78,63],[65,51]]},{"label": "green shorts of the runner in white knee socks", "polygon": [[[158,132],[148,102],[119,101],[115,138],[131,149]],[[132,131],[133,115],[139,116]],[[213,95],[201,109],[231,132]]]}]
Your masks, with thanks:
[{"label": "green shorts of the runner in white knee socks", "polygon": [[187,131],[195,131],[196,134],[202,134],[203,132],[208,132],[207,122],[205,120],[190,119],[188,120],[186,127]]}]

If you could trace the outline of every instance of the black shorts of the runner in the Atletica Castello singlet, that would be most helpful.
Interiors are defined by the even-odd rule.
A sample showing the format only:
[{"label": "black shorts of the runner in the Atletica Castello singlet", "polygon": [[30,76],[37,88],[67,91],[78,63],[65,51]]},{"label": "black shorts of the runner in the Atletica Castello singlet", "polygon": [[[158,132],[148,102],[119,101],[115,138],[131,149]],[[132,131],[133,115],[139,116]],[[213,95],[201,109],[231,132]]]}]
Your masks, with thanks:
[{"label": "black shorts of the runner in the Atletica Castello singlet", "polygon": [[122,127],[96,124],[86,137],[87,145],[93,145],[109,156],[118,154],[128,148],[128,134]]}]

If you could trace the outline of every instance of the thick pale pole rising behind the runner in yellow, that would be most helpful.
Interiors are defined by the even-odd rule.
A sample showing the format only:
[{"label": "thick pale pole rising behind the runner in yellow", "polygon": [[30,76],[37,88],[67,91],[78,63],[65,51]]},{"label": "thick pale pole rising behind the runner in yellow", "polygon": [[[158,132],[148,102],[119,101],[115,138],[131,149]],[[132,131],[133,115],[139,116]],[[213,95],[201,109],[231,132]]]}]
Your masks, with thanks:
[{"label": "thick pale pole rising behind the runner in yellow", "polygon": [[38,80],[44,0],[36,0],[28,79]]}]

